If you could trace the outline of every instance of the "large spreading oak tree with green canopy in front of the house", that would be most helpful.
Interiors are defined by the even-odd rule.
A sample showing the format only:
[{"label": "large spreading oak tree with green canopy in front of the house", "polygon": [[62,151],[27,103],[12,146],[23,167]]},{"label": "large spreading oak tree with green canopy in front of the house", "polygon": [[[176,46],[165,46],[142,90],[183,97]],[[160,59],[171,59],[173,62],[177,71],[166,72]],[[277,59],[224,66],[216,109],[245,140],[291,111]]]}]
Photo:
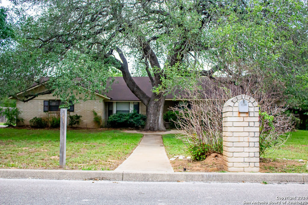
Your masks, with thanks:
[{"label": "large spreading oak tree with green canopy in front of the house", "polygon": [[[44,92],[27,93],[19,100],[55,93],[63,100],[78,101],[73,90],[91,98],[95,90],[107,90],[110,77],[120,72],[146,105],[145,129],[164,130],[165,95],[195,75],[214,79],[219,74],[232,79],[265,75],[266,83],[279,82],[277,89],[289,92],[291,101],[307,94],[303,83],[307,5],[300,0],[23,0],[19,4],[35,6],[38,14],[17,12],[19,36],[1,51],[1,95],[17,98],[16,93],[49,77]],[[148,75],[151,96],[136,85],[134,69]]]}]

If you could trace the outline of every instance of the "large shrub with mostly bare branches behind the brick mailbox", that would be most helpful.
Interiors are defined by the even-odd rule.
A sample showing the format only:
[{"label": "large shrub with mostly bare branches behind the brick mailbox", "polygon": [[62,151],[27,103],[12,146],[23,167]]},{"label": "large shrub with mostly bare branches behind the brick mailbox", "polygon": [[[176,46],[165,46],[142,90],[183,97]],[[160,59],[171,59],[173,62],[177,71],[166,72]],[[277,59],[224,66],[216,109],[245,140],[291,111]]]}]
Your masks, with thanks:
[{"label": "large shrub with mostly bare branches behind the brick mailbox", "polygon": [[174,121],[182,140],[193,159],[203,160],[211,153],[222,152],[222,107],[230,98],[246,94],[260,106],[260,154],[278,148],[287,138],[284,133],[294,128],[292,115],[282,93],[273,86],[264,87],[264,77],[239,77],[235,81],[219,81],[200,77],[190,88],[184,89],[181,106],[172,108],[179,120]]}]

